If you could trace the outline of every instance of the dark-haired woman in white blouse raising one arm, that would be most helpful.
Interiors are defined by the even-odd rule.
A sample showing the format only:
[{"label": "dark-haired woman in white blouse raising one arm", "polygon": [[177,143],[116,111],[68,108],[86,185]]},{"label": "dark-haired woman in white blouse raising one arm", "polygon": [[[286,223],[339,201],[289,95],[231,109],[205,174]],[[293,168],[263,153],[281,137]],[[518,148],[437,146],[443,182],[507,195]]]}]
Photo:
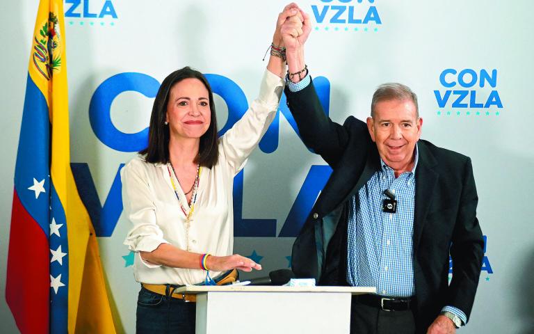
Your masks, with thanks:
[{"label": "dark-haired woman in white blouse raising one arm", "polygon": [[280,26],[302,33],[291,4],[280,13],[259,97],[221,138],[206,78],[189,67],[165,78],[154,101],[148,147],[122,169],[124,212],[133,228],[124,241],[136,252],[133,272],[142,283],[137,333],[194,333],[194,296],[176,287],[220,284],[235,269],[261,269],[233,254],[234,176],[275,117],[286,65]]}]

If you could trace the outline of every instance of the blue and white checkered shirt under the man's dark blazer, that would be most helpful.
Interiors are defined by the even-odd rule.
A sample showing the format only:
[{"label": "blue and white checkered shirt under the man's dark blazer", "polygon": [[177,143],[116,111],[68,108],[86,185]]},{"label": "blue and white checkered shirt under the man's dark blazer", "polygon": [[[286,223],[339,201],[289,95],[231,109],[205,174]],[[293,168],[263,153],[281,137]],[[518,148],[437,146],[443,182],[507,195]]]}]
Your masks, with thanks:
[{"label": "blue and white checkered shirt under the man's dark blazer", "polygon": [[[298,92],[311,82],[307,74],[294,84],[286,77],[289,90]],[[416,145],[414,169],[395,177],[382,159],[382,169],[350,199],[348,215],[347,281],[353,287],[376,287],[382,296],[410,297],[415,294],[413,234],[415,208],[415,168],[419,161]],[[389,189],[397,200],[396,214],[382,212],[382,201]],[[445,306],[467,323],[462,310]]]}]

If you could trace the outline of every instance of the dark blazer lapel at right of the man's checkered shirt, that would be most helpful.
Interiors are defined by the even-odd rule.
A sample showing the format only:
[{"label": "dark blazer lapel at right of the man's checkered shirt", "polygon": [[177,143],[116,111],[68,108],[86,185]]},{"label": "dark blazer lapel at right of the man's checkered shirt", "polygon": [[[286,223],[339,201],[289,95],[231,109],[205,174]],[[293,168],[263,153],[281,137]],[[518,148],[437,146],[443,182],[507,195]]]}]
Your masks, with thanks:
[{"label": "dark blazer lapel at right of the man's checkered shirt", "polygon": [[423,141],[419,141],[418,148],[419,162],[415,172],[414,250],[417,249],[419,241],[421,241],[426,215],[434,198],[433,193],[439,178],[438,173],[433,169],[437,165],[437,161],[426,147],[426,144]]}]

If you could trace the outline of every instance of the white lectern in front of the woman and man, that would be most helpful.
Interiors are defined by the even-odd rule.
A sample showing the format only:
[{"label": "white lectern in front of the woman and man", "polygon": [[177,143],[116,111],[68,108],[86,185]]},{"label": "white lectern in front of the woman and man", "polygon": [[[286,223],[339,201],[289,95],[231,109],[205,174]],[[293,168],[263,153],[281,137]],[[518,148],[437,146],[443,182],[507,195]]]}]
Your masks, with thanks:
[{"label": "white lectern in front of the woman and man", "polygon": [[187,286],[197,294],[196,334],[350,331],[350,296],[374,287]]}]

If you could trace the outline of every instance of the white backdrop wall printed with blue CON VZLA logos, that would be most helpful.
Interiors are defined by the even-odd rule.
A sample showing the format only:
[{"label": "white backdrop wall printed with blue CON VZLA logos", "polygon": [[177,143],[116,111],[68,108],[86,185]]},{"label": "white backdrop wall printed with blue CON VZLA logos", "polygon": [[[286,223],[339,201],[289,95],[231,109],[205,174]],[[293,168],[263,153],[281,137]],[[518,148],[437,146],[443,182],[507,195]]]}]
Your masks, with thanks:
[{"label": "white backdrop wall printed with blue CON VZLA logos", "polygon": [[[111,216],[120,210],[114,206],[113,211],[116,203],[108,193],[120,164],[134,153],[110,148],[95,135],[89,112],[95,90],[117,74],[129,78],[130,74],[124,74],[129,72],[144,74],[136,75],[144,80],[139,87],[146,88],[149,86],[143,85],[151,80],[161,82],[173,70],[191,65],[233,81],[251,102],[259,90],[266,66],[261,58],[270,44],[277,13],[286,4],[66,2],[65,11],[70,11],[65,22],[72,161],[87,164],[101,204],[111,198]],[[478,218],[487,236],[487,249],[471,321],[460,333],[534,333],[531,1],[307,0],[298,4],[312,15],[307,64],[313,77],[330,82],[327,96],[332,120],[343,122],[349,115],[366,118],[375,87],[398,81],[419,95],[423,138],[467,154],[473,161],[480,198]],[[4,292],[13,172],[37,7],[38,0],[3,1],[0,5],[2,333],[17,333]],[[480,73],[490,77],[483,86]],[[234,97],[238,89],[234,87],[232,92],[228,96]],[[442,100],[446,94],[451,94],[449,99]],[[133,134],[147,127],[152,101],[135,90],[124,91],[106,111],[118,131]],[[98,100],[95,103],[104,105]],[[235,111],[228,111],[232,108],[223,97],[216,97],[216,104],[223,127]],[[272,138],[276,137],[276,150],[256,150],[244,172],[240,218],[264,221],[252,222],[254,227],[245,233],[248,237],[236,237],[235,242],[236,252],[252,255],[263,265],[264,274],[287,267],[294,238],[278,234],[311,166],[325,165],[306,150],[284,116],[280,116],[280,136]],[[318,182],[313,176],[307,181],[311,189]],[[312,200],[315,195],[312,193]],[[99,244],[117,309],[115,317],[126,333],[133,333],[139,285],[133,279],[129,251],[122,245],[129,222],[123,216],[106,219],[101,223],[111,235],[100,237]],[[268,220],[273,219],[275,232],[254,237],[266,231]],[[289,221],[293,227],[296,223]]]}]

